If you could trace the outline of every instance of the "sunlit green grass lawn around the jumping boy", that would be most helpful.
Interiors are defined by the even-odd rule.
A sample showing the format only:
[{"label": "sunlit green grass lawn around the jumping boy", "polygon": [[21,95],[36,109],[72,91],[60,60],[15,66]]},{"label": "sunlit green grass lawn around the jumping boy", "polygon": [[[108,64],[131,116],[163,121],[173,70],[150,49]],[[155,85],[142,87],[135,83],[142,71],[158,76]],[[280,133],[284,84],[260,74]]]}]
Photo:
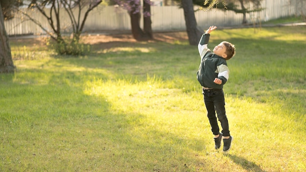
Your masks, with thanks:
[{"label": "sunlit green grass lawn around the jumping boy", "polygon": [[187,40],[95,44],[78,58],[12,41],[0,171],[306,171],[305,26],[216,30],[209,47],[223,40],[237,47],[224,86],[229,153],[214,149]]}]

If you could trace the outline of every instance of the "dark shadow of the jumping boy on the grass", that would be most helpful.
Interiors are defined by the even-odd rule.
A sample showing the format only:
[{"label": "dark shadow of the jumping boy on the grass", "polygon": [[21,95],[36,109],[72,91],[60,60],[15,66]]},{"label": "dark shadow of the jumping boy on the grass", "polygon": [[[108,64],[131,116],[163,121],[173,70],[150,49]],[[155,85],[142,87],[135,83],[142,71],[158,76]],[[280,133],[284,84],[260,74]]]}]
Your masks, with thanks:
[{"label": "dark shadow of the jumping boy on the grass", "polygon": [[239,157],[237,155],[233,154],[224,154],[224,156],[227,156],[233,160],[234,163],[237,165],[240,165],[243,169],[247,171],[252,171],[252,172],[266,172],[262,170],[260,165],[255,164],[254,162],[248,161],[243,157]]}]

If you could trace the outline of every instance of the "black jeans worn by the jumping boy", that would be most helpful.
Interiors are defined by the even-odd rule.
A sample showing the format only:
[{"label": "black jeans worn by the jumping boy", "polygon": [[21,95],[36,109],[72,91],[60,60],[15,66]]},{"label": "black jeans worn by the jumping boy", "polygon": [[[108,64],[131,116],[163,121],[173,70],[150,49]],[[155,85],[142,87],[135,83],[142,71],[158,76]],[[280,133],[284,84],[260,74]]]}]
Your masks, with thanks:
[{"label": "black jeans worn by the jumping boy", "polygon": [[223,136],[230,136],[228,120],[225,114],[225,100],[223,89],[203,89],[204,103],[207,109],[207,117],[214,135],[219,134],[219,125],[216,117],[221,123]]}]

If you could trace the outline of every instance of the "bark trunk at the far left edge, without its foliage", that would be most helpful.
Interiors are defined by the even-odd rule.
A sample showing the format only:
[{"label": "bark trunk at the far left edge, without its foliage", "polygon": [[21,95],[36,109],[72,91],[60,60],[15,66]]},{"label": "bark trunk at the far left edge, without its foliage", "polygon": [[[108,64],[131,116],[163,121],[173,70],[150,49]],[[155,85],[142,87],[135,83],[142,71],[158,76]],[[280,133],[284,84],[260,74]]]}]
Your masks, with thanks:
[{"label": "bark trunk at the far left edge, without its foliage", "polygon": [[14,73],[14,71],[15,66],[0,4],[0,73]]}]

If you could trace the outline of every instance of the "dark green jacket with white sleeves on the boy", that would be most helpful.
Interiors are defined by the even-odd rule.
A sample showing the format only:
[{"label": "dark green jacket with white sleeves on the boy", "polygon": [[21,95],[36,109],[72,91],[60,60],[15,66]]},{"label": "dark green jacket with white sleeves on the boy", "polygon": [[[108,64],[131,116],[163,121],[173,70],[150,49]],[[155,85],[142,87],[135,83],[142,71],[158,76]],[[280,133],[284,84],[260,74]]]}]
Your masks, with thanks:
[{"label": "dark green jacket with white sleeves on the boy", "polygon": [[[207,48],[210,34],[203,34],[198,44],[198,51],[201,57],[201,64],[197,71],[197,81],[201,86],[207,88],[222,89],[229,77],[229,69],[226,60]],[[214,83],[215,78],[222,81],[222,84]]]}]

